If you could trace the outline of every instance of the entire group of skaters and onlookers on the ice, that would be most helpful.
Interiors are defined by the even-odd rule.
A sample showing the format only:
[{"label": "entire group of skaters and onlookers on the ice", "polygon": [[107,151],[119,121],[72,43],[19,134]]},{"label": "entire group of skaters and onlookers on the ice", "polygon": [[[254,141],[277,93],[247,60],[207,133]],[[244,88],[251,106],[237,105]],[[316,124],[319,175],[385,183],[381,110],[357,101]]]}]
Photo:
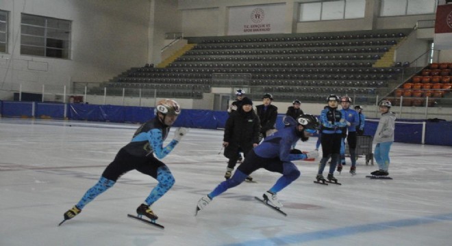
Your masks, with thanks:
[{"label": "entire group of skaters and onlookers on the ice", "polygon": [[[262,105],[253,109],[253,101],[245,96],[244,90],[236,91],[237,100],[228,109],[229,118],[225,124],[223,135],[224,155],[229,159],[225,180],[199,200],[196,211],[202,210],[214,197],[221,195],[233,187],[238,186],[244,180],[252,180],[251,174],[257,169],[266,169],[269,172],[277,172],[281,177],[266,191],[262,197],[264,201],[281,208],[283,205],[277,198],[277,193],[287,187],[300,176],[300,171],[293,161],[304,159],[316,159],[318,157],[318,145],[315,150],[302,152],[294,148],[297,141],[307,141],[314,133],[319,133],[319,139],[323,154],[318,167],[316,179],[325,180],[323,171],[327,161],[331,159],[327,179],[337,182],[334,178],[336,165],[342,170],[341,148],[344,149],[344,139],[349,144],[351,157],[351,174],[356,170],[356,136],[364,134],[364,114],[362,107],[355,106],[350,109],[351,98],[343,96],[339,98],[331,94],[327,97],[327,106],[321,111],[320,117],[303,113],[301,102],[294,100],[288,107],[284,117],[284,128],[276,130],[277,107],[272,105],[273,96],[264,94]],[[342,109],[338,109],[338,104]],[[394,141],[395,115],[390,111],[391,102],[383,100],[379,103],[381,118],[377,126],[374,142],[375,160],[379,170],[372,173],[375,176],[388,175],[389,151]],[[145,216],[151,221],[158,219],[151,206],[160,199],[175,183],[168,166],[160,161],[169,154],[175,146],[188,133],[187,128],[176,129],[173,140],[164,146],[171,126],[181,113],[181,107],[175,100],[160,100],[155,106],[155,118],[142,124],[134,133],[131,141],[121,148],[116,157],[108,165],[99,181],[81,197],[81,200],[73,208],[64,213],[64,220],[72,219],[92,200],[110,189],[126,172],[136,169],[142,174],[147,174],[158,184],[151,189],[148,197],[138,206],[138,216]],[[244,155],[234,174],[234,167]]]}]

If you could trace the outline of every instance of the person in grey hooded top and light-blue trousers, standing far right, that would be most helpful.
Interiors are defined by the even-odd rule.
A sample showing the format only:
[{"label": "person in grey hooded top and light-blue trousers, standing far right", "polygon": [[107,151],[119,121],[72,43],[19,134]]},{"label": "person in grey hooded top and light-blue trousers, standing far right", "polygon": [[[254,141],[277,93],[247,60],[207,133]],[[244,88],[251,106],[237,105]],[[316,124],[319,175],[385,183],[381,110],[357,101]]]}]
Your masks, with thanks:
[{"label": "person in grey hooded top and light-blue trousers, standing far right", "polygon": [[373,137],[373,142],[377,143],[375,146],[374,156],[377,161],[379,170],[372,172],[373,176],[388,176],[389,167],[389,151],[394,142],[395,129],[395,113],[390,111],[392,104],[388,100],[382,100],[379,104],[379,111],[381,118],[378,122],[377,131]]}]

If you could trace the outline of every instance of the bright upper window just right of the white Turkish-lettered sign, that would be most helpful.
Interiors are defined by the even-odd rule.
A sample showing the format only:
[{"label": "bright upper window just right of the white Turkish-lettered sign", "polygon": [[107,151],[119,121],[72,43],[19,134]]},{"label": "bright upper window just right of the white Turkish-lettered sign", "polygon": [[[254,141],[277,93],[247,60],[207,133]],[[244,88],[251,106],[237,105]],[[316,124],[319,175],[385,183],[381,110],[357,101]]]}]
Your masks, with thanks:
[{"label": "bright upper window just right of the white Turkish-lettered sign", "polygon": [[366,0],[324,0],[300,3],[299,21],[364,18]]}]

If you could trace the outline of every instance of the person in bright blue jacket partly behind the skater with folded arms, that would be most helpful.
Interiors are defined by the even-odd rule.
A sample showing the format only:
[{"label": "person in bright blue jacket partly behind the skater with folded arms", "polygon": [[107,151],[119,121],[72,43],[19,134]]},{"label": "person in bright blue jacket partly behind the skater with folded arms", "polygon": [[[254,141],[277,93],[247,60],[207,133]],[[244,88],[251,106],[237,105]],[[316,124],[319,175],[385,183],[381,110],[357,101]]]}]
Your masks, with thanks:
[{"label": "person in bright blue jacket partly behind the skater with folded arms", "polygon": [[345,165],[345,139],[347,138],[347,144],[349,145],[350,152],[350,174],[356,174],[356,126],[360,122],[360,115],[354,110],[350,108],[352,100],[349,96],[342,96],[340,98],[340,105],[342,109],[340,112],[344,115],[344,119],[350,123],[347,128],[344,128],[342,131],[342,140],[340,146],[340,161],[338,163],[338,172],[342,172],[342,165]]}]

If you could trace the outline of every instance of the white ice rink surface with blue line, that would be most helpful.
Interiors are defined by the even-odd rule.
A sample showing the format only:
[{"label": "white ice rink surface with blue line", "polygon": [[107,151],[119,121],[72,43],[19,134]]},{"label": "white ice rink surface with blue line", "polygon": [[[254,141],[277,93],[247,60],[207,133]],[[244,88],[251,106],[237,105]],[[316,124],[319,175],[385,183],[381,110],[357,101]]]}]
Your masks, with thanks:
[{"label": "white ice rink surface with blue line", "polygon": [[153,205],[164,230],[127,218],[157,183],[136,171],[58,226],[136,128],[0,118],[0,245],[451,245],[451,146],[394,143],[393,180],[365,178],[378,168],[363,158],[351,176],[347,158],[335,174],[342,186],[314,184],[318,160],[296,161],[300,178],[278,193],[287,217],[253,199],[280,176],[258,170],[256,182],[226,191],[194,217],[198,200],[224,180],[227,161],[218,154],[223,131],[203,129],[190,129],[162,160],[176,179]]}]

